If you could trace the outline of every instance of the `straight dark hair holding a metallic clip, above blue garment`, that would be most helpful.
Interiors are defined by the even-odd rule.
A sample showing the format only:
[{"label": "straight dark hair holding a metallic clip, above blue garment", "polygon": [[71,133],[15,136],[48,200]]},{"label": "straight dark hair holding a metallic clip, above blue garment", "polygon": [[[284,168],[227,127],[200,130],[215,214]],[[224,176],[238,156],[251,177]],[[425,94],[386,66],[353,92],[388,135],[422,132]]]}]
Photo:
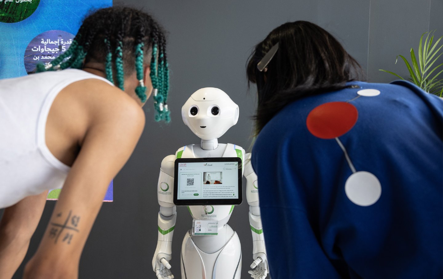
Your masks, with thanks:
[{"label": "straight dark hair holding a metallic clip, above blue garment", "polygon": [[[267,69],[257,64],[279,43]],[[262,42],[249,57],[246,69],[249,82],[256,83],[258,105],[256,135],[285,105],[300,98],[346,87],[347,81],[359,80],[363,70],[340,43],[314,23],[284,23]]]}]

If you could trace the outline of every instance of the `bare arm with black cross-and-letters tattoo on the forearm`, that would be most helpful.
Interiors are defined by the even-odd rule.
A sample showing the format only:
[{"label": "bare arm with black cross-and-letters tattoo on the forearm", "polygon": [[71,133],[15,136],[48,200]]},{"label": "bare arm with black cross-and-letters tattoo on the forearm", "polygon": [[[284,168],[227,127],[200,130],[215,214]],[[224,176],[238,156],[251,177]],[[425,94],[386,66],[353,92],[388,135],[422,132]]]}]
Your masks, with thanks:
[{"label": "bare arm with black cross-and-letters tattoo on the forearm", "polygon": [[121,91],[121,97],[109,96],[113,94],[109,90],[104,93],[86,99],[90,115],[81,150],[24,278],[78,277],[79,259],[109,182],[141,135],[144,112],[140,106]]}]

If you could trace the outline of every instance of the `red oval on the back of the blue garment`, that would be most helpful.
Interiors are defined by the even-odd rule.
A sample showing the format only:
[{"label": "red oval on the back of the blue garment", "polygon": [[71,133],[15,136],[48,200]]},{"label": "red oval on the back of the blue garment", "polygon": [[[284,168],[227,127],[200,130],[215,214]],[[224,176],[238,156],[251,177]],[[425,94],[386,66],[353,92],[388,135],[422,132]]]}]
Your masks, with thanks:
[{"label": "red oval on the back of the blue garment", "polygon": [[358,119],[354,105],[346,102],[330,102],[309,112],[306,126],[312,135],[320,139],[334,139],[349,132]]}]

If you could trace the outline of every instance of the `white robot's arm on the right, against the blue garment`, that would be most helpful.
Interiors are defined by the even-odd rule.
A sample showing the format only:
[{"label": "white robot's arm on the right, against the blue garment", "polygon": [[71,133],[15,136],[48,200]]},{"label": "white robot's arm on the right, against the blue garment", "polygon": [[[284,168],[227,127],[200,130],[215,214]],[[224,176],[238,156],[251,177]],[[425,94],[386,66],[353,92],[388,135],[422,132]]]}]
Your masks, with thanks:
[{"label": "white robot's arm on the right, against the blue garment", "polygon": [[268,259],[266,257],[266,248],[264,246],[263,226],[261,225],[260,207],[258,198],[257,175],[253,171],[251,165],[251,154],[245,156],[245,172],[246,177],[246,200],[249,204],[249,224],[252,231],[253,239],[253,263],[249,271],[251,277],[256,279],[264,279],[268,275]]}]

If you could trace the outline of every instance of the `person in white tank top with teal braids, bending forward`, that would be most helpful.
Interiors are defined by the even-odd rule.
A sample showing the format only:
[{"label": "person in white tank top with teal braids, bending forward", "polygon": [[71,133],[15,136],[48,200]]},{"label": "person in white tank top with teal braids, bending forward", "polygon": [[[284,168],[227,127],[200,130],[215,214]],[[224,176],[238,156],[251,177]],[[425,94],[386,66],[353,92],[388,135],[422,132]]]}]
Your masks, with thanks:
[{"label": "person in white tank top with teal braids, bending forward", "polygon": [[104,8],[87,16],[70,48],[36,74],[0,81],[0,277],[15,273],[48,190],[61,186],[24,277],[78,277],[109,182],[143,131],[141,106],[151,92],[155,120],[170,121],[165,45],[150,15]]}]

